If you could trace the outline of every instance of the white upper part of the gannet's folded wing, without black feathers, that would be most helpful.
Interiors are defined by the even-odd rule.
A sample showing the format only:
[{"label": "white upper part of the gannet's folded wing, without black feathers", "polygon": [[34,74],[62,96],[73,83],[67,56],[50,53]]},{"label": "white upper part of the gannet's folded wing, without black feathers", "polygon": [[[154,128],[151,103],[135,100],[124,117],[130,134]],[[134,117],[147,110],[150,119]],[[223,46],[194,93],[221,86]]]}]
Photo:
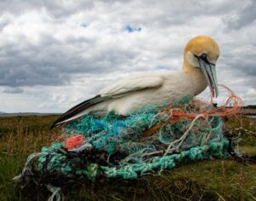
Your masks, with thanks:
[{"label": "white upper part of the gannet's folded wing, without black feathers", "polygon": [[113,85],[102,89],[100,95],[102,97],[121,97],[127,93],[140,89],[158,88],[163,85],[163,83],[164,79],[160,75],[135,76],[132,78],[125,78],[119,83],[114,83]]}]

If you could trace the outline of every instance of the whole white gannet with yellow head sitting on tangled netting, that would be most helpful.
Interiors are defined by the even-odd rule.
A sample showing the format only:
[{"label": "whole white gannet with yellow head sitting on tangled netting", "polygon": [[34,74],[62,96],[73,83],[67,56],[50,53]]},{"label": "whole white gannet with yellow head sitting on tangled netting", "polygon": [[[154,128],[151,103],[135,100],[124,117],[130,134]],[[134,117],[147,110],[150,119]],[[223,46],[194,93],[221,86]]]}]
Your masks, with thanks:
[{"label": "whole white gannet with yellow head sitting on tangled netting", "polygon": [[103,115],[113,111],[125,116],[148,105],[166,106],[184,96],[199,95],[207,86],[212,96],[217,97],[218,56],[218,43],[212,37],[193,37],[184,48],[181,71],[142,73],[124,78],[64,112],[50,129],[88,113]]}]

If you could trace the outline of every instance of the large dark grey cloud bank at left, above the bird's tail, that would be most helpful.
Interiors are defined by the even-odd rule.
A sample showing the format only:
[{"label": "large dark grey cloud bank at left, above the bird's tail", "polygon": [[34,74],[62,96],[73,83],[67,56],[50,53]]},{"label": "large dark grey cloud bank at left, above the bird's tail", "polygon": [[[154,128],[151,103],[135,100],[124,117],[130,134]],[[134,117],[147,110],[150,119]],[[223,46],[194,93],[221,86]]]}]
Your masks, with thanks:
[{"label": "large dark grey cloud bank at left, above the bird's tail", "polygon": [[[79,48],[87,43],[82,38],[79,38],[79,45],[73,37],[60,43],[45,35],[37,45],[25,40],[22,43],[20,46],[17,43],[1,46],[0,85],[17,87],[67,84],[73,75],[80,73],[120,71],[125,60],[136,56],[129,49],[98,47],[95,51],[88,47]],[[86,51],[92,54],[91,58],[83,58]]]}]

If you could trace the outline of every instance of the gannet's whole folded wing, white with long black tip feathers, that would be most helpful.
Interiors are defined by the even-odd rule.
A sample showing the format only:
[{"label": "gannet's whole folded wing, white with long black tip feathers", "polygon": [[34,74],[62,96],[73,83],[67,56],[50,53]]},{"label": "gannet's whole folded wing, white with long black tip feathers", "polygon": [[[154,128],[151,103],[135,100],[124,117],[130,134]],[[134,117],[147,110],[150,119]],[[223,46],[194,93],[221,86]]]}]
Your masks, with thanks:
[{"label": "gannet's whole folded wing, white with long black tip feathers", "polygon": [[164,79],[161,76],[136,76],[132,78],[126,78],[119,83],[114,83],[109,87],[102,89],[100,95],[96,95],[90,100],[84,100],[77,106],[73,106],[70,110],[63,113],[55,123],[50,126],[50,129],[54,129],[57,125],[79,118],[79,113],[83,113],[84,110],[90,108],[90,106],[95,106],[96,104],[103,102],[105,100],[110,100],[113,98],[119,98],[121,96],[127,95],[131,92],[149,89],[149,88],[158,88],[163,85]]}]

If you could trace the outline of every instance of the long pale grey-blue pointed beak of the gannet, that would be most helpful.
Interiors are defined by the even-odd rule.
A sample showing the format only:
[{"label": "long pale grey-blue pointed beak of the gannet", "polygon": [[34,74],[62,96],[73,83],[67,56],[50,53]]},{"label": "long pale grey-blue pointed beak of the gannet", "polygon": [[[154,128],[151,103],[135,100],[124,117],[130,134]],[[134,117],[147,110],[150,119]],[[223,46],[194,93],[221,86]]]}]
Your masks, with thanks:
[{"label": "long pale grey-blue pointed beak of the gannet", "polygon": [[208,60],[202,60],[198,57],[199,65],[204,73],[205,77],[207,78],[208,86],[211,90],[213,97],[217,98],[218,96],[218,82],[216,76],[216,68],[215,64],[210,63]]}]

